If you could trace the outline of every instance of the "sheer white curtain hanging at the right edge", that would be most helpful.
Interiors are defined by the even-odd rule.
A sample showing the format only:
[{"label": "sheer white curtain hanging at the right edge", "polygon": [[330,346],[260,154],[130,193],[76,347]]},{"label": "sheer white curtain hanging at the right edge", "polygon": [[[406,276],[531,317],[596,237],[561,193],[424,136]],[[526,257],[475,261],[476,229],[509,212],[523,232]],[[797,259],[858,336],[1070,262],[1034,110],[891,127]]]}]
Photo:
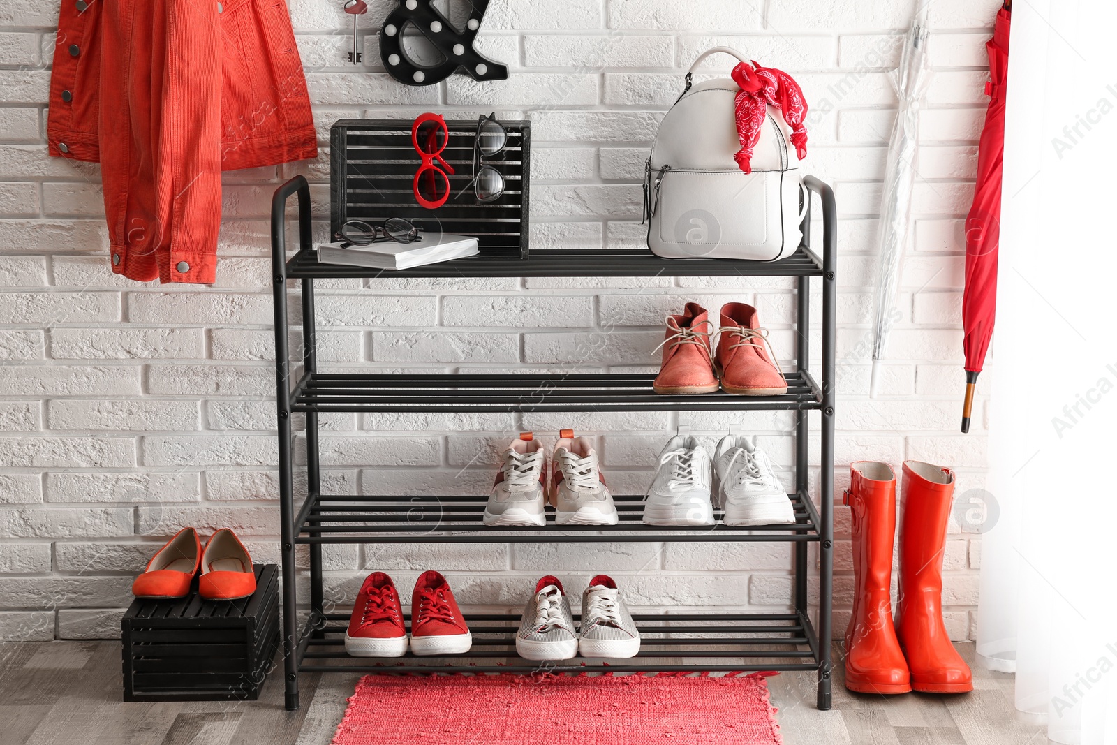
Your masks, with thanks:
[{"label": "sheer white curtain hanging at the right edge", "polygon": [[[1012,11],[977,652],[1117,745],[1117,3]],[[960,373],[961,375],[961,373]]]}]

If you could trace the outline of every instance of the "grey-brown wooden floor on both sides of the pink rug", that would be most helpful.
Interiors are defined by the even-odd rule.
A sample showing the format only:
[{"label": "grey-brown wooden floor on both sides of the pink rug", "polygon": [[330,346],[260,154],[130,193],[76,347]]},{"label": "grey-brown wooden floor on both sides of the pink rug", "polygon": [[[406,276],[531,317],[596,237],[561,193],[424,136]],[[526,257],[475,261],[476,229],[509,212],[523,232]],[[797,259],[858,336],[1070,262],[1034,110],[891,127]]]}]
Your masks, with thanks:
[{"label": "grey-brown wooden floor on both sides of the pink rug", "polygon": [[[972,644],[958,649],[972,659]],[[848,693],[839,666],[830,711],[814,708],[813,674],[768,685],[787,745],[1044,745],[1043,730],[1016,717],[1011,677],[973,669],[971,694],[882,697]],[[298,711],[284,710],[275,672],[257,701],[125,704],[120,642],[0,644],[0,744],[323,745],[357,677],[304,676]]]}]

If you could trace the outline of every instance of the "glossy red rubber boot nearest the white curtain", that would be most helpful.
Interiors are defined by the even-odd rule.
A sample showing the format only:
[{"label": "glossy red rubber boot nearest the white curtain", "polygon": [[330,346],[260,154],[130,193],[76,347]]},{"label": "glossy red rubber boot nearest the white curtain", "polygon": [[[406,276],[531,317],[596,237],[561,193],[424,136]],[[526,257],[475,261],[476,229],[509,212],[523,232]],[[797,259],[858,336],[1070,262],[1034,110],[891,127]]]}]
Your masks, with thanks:
[{"label": "glossy red rubber boot nearest the white curtain", "polygon": [[896,636],[911,669],[911,687],[926,694],[962,694],[974,687],[970,666],[943,623],[943,552],[953,497],[949,468],[904,461]]}]

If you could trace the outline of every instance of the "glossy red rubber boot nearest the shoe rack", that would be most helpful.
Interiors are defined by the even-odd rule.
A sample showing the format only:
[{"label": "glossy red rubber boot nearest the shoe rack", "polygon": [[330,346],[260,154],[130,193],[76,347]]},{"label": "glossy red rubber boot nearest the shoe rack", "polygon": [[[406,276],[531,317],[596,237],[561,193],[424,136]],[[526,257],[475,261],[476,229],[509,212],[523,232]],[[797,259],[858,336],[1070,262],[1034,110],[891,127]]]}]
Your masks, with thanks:
[{"label": "glossy red rubber boot nearest the shoe rack", "polygon": [[860,694],[911,690],[892,628],[890,585],[896,535],[896,476],[888,464],[850,464],[843,497],[852,515],[853,614],[846,631],[846,687]]}]

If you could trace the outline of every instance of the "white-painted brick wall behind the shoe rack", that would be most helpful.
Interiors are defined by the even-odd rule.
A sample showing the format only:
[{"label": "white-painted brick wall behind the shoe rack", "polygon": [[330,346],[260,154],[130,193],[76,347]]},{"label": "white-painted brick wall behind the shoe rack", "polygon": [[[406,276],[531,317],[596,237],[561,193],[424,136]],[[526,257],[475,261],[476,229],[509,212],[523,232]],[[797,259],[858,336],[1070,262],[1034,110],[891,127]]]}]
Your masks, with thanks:
[{"label": "white-painted brick wall behind the shoe rack", "polygon": [[[528,117],[534,245],[637,246],[645,153],[681,73],[717,44],[799,79],[813,106],[806,170],[838,194],[836,494],[848,483],[848,461],[859,458],[897,467],[904,458],[927,458],[957,466],[960,490],[982,486],[984,399],[976,431],[956,432],[961,218],[983,121],[983,45],[996,0],[933,3],[934,79],[915,237],[879,400],[867,391],[871,251],[895,108],[887,70],[914,0],[494,0],[480,44],[508,64],[512,77],[483,85],[458,76],[426,88],[398,85],[379,68],[374,28],[393,2],[371,3],[360,20],[372,63],[364,67],[342,61],[351,17],[341,3],[289,2],[323,147],[315,163],[226,175],[222,259],[212,288],[141,285],[109,273],[97,166],[46,155],[49,54],[41,50],[52,39],[58,3],[0,9],[0,640],[113,636],[132,573],[180,525],[231,526],[258,558],[277,558],[268,200],[281,180],[306,174],[324,235],[326,145],[336,118],[427,109]],[[703,71],[727,68],[720,58]],[[782,279],[746,286],[701,278],[338,280],[322,287],[321,359],[345,370],[649,369],[662,314],[691,298],[712,308],[731,299],[756,303],[780,356],[791,356],[792,285]],[[818,298],[814,308],[818,319]],[[298,338],[294,332],[292,343]],[[713,441],[738,418],[685,419]],[[789,464],[787,416],[739,420]],[[610,483],[639,493],[649,459],[677,421],[666,413],[323,417],[324,479],[342,494],[484,493],[494,448],[512,432],[552,434],[573,426],[598,439]],[[299,438],[300,459],[304,448]],[[843,507],[836,516],[840,633],[851,590],[849,520]],[[944,602],[952,634],[965,638],[974,628],[980,544],[953,531]],[[305,551],[299,555],[305,565]],[[747,608],[786,602],[791,553],[775,544],[703,543],[330,546],[325,555],[327,598],[338,605],[365,571],[393,571],[402,586],[437,567],[450,574],[465,603],[518,608],[535,575],[565,566],[561,573],[574,590],[595,570],[614,572],[638,605]]]}]

